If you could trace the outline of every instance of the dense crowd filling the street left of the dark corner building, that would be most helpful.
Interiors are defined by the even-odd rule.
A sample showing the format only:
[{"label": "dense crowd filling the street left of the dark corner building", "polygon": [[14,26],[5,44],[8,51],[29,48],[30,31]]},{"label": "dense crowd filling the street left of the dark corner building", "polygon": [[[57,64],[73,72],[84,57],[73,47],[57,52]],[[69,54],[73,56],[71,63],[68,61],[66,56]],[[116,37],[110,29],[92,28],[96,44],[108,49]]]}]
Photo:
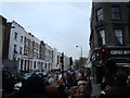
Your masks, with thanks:
[{"label": "dense crowd filling the street left of the dark corner building", "polygon": [[90,98],[92,84],[90,72],[86,70],[63,73],[32,74],[23,83],[18,98]]}]

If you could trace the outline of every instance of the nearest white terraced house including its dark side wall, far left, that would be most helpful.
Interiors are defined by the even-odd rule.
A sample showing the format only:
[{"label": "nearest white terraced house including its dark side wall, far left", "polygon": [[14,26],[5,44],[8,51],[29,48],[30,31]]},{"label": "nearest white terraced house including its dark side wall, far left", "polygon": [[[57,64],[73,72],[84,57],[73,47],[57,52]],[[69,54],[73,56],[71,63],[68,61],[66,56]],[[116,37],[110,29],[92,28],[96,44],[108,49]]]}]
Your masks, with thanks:
[{"label": "nearest white terraced house including its dark side wall, far left", "polygon": [[3,34],[3,69],[18,73],[21,58],[24,54],[25,29],[15,21],[8,22]]}]

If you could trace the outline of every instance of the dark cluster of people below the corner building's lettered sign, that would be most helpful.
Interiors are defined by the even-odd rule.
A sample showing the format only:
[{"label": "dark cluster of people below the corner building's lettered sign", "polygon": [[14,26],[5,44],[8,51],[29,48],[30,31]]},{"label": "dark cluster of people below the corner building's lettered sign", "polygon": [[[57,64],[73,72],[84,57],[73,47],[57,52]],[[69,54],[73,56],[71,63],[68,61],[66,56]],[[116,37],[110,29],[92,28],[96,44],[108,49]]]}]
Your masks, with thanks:
[{"label": "dark cluster of people below the corner building's lettered sign", "polygon": [[99,98],[130,98],[130,73],[117,71],[114,79],[101,84]]}]

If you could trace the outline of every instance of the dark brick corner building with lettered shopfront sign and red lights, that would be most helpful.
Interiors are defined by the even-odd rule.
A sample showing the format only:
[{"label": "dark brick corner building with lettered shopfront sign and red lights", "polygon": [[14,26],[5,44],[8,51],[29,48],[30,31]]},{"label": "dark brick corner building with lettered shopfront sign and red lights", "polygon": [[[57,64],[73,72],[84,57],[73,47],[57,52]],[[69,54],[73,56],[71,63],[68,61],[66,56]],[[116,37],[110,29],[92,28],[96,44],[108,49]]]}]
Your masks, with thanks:
[{"label": "dark brick corner building with lettered shopfront sign and red lights", "polygon": [[109,61],[130,65],[129,2],[92,2],[90,49],[98,83]]}]

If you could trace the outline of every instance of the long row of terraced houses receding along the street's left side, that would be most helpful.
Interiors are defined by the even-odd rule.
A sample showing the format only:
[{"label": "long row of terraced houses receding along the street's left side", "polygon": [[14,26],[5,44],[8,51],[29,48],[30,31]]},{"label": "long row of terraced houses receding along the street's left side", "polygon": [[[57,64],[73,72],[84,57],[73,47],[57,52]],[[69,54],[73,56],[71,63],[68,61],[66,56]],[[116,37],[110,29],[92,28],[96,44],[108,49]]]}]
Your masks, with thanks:
[{"label": "long row of terraced houses receding along the street's left side", "polygon": [[[52,48],[43,40],[39,40],[31,33],[27,33],[23,26],[15,21],[6,22],[0,15],[0,60],[3,66],[11,73],[62,70],[60,62],[61,52]],[[2,63],[2,61],[0,61]],[[64,65],[68,68],[68,58],[65,56]]]}]

